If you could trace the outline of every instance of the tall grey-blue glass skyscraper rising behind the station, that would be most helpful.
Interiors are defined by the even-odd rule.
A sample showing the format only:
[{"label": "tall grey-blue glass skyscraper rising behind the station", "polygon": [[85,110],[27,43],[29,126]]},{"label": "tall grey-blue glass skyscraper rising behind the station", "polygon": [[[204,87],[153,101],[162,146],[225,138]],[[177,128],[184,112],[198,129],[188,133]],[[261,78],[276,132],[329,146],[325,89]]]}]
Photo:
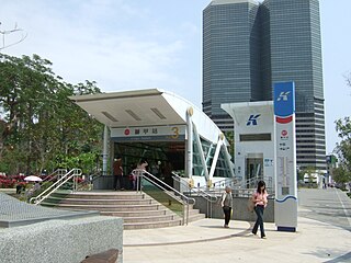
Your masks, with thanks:
[{"label": "tall grey-blue glass skyscraper rising behind the station", "polygon": [[295,82],[297,164],[325,170],[318,0],[213,0],[203,12],[203,111],[230,130],[220,104],[272,100],[280,81]]}]

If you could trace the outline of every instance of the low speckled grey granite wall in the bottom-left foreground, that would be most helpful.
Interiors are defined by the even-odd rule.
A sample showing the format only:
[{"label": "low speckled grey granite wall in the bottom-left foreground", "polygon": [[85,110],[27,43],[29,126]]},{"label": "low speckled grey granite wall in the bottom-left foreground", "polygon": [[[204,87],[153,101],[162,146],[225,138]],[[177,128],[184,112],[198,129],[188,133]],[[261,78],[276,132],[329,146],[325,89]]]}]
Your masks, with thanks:
[{"label": "low speckled grey granite wall in the bottom-left foreground", "polygon": [[0,228],[0,263],[79,263],[110,249],[118,250],[122,263],[122,218],[93,216]]}]

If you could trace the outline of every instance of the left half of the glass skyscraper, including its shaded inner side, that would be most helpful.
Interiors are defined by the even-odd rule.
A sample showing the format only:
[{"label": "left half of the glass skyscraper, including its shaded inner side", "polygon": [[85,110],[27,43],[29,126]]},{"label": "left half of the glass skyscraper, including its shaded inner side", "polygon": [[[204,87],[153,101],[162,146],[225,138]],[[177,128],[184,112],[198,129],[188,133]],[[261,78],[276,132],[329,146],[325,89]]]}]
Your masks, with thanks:
[{"label": "left half of the glass skyscraper, including its shaded inner side", "polygon": [[203,22],[203,111],[231,118],[220,103],[254,101],[259,92],[258,5],[210,4]]}]

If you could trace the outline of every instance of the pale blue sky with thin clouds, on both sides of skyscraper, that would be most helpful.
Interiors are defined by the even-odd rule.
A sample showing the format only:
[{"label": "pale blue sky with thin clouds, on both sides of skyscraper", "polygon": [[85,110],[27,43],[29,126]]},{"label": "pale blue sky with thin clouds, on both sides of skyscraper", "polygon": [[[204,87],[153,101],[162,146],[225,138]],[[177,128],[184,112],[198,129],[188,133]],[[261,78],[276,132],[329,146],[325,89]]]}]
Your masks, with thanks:
[{"label": "pale blue sky with thin clouds, on both sides of skyscraper", "polygon": [[[210,0],[11,0],[0,5],[0,31],[16,23],[24,42],[8,55],[49,59],[67,82],[95,80],[104,92],[159,88],[201,108],[202,10]],[[351,1],[320,0],[327,153],[333,122],[350,116]],[[7,35],[5,43],[19,34]],[[2,42],[2,39],[1,39]]]}]

